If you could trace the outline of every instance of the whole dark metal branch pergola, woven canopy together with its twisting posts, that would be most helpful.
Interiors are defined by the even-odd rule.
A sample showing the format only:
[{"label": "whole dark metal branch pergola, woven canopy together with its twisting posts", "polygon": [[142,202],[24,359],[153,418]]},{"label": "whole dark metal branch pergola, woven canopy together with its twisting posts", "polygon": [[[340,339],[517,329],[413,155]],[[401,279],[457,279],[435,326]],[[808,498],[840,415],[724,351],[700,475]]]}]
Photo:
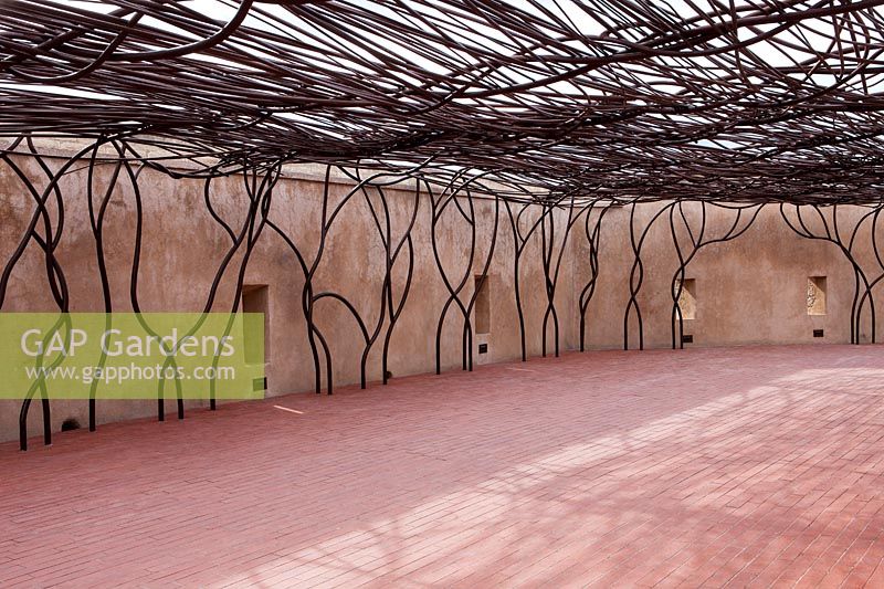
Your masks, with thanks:
[{"label": "whole dark metal branch pergola, woven canopy together with its twisting posts", "polygon": [[[141,309],[141,182],[150,170],[202,182],[206,211],[224,235],[204,312],[240,308],[250,257],[260,243],[281,241],[303,280],[316,392],[333,391],[333,346],[322,326],[333,306],[356,325],[361,386],[378,348],[387,381],[392,335],[414,282],[419,222],[431,228],[446,292],[436,322],[438,372],[452,317],[462,334],[462,368],[473,368],[478,288],[471,276],[482,276],[481,287],[503,245],[512,245],[527,360],[525,256],[536,246],[543,267],[541,354],[558,355],[561,263],[580,241],[589,272],[577,303],[585,349],[602,221],[618,208],[629,211],[634,260],[625,348],[635,324],[644,346],[639,295],[652,227],[669,220],[678,260],[671,282],[676,347],[685,269],[701,249],[743,235],[768,204],[780,208],[794,233],[845,255],[855,274],[851,339],[860,341],[867,309],[874,340],[873,290],[884,278],[877,241],[884,0],[206,0],[199,9],[165,0],[6,0],[2,7],[0,166],[27,194],[31,214],[4,261],[0,308],[29,249],[44,261],[55,308],[72,308],[57,251],[73,198],[65,179],[75,177],[86,194],[102,308]],[[62,157],[41,147],[51,141],[77,147]],[[301,164],[326,170],[315,244],[273,217],[284,168]],[[333,170],[350,180],[343,198],[330,192]],[[228,203],[241,213],[235,220],[220,212],[214,188],[231,178],[241,182]],[[402,186],[413,201],[399,227],[389,192]],[[124,199],[135,224],[122,302],[109,284],[105,227]],[[696,201],[698,227],[683,209]],[[477,202],[491,202],[487,219]],[[660,208],[636,228],[645,203]],[[838,221],[846,204],[867,210],[849,236]],[[359,308],[320,278],[336,220],[357,206],[382,252],[372,260],[382,276],[372,286],[372,308]],[[707,228],[707,208],[726,209],[733,224]],[[438,253],[438,230],[449,222],[467,228],[462,267],[448,267]],[[866,227],[871,267],[853,254]],[[225,276],[233,277],[232,292],[221,288]],[[51,441],[50,403],[35,388],[21,409],[22,448],[36,398]],[[159,419],[164,398],[160,390]],[[93,396],[92,430],[96,412]],[[185,417],[180,395],[178,417]]]}]

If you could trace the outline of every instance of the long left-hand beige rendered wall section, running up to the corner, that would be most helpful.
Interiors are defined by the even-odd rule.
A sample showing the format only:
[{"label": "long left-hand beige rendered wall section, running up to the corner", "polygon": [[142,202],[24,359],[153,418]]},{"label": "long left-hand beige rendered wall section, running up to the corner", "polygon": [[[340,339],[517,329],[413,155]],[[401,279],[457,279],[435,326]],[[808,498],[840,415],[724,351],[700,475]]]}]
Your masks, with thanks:
[{"label": "long left-hand beige rendered wall section, running up to the corner", "polygon": [[[34,162],[28,158],[15,161],[36,179],[38,188],[45,186]],[[63,159],[50,159],[52,167]],[[97,201],[113,176],[113,166],[97,168],[94,179]],[[104,243],[109,273],[114,311],[130,311],[129,282],[135,246],[136,202],[130,182],[120,173],[106,212]],[[64,194],[64,228],[56,256],[70,290],[71,311],[103,311],[95,239],[90,229],[86,194],[86,175],[80,170],[63,177],[60,186]],[[343,182],[343,180],[341,180]],[[203,182],[173,180],[162,173],[145,169],[138,178],[143,207],[143,243],[138,273],[138,301],[141,311],[175,312],[201,311],[206,304],[214,273],[230,248],[231,240],[215,223],[203,202]],[[330,188],[329,208],[340,202],[351,191],[352,182],[334,183]],[[299,248],[311,264],[319,243],[319,220],[323,202],[323,183],[312,178],[283,178],[276,185],[269,218]],[[392,241],[402,239],[412,215],[415,198],[409,186],[386,190],[391,215]],[[211,201],[218,214],[234,229],[245,220],[246,191],[241,177],[212,181]],[[370,199],[380,211],[382,203],[376,191]],[[425,193],[418,202],[418,214],[412,230],[414,270],[412,285],[402,315],[390,343],[389,370],[393,378],[435,369],[435,333],[448,291],[440,277],[431,244],[431,206]],[[460,210],[454,206],[440,214],[436,228],[440,260],[455,283],[469,273],[466,287],[461,294],[464,304],[474,290],[474,275],[482,272],[491,248],[494,230],[495,203],[474,199],[476,218],[475,255],[469,265],[471,232]],[[56,223],[57,207],[50,199],[49,208]],[[469,207],[462,199],[462,209]],[[0,165],[0,260],[3,264],[18,245],[34,210],[34,202],[24,185],[9,167]],[[515,212],[516,209],[514,209]],[[522,219],[527,231],[540,213],[530,208]],[[475,364],[503,361],[520,357],[520,339],[516,305],[513,294],[514,240],[509,218],[503,206],[497,211],[497,240],[488,267],[491,329],[474,339],[488,345],[484,355],[474,355]],[[567,213],[556,211],[560,222]],[[541,320],[546,309],[544,269],[540,257],[539,233],[528,242],[522,259],[519,283],[526,322],[526,345],[529,356],[541,350]],[[561,246],[556,238],[554,251]],[[561,320],[560,346],[562,350],[576,346],[576,316],[573,305],[571,255],[561,266],[556,306]],[[231,261],[223,275],[213,309],[229,309],[233,299],[236,272],[242,252]],[[45,257],[33,243],[15,265],[3,303],[4,312],[56,311],[45,277]],[[403,250],[393,271],[394,296],[401,296],[407,274],[408,252]],[[385,275],[383,246],[370,217],[366,197],[354,196],[341,209],[328,232],[323,257],[313,280],[314,292],[335,292],[358,309],[373,330],[378,319],[381,287]],[[269,395],[312,391],[314,388],[313,357],[309,351],[306,324],[302,308],[304,273],[284,240],[267,228],[260,235],[245,271],[244,284],[266,285],[269,303],[269,357],[266,375]],[[398,298],[397,298],[398,299]],[[362,337],[352,316],[344,305],[332,298],[316,303],[315,320],[329,344],[333,358],[335,387],[359,381],[359,360]],[[385,318],[387,325],[388,318]],[[463,323],[452,306],[442,332],[442,368],[461,370]],[[550,329],[551,338],[551,329]],[[551,339],[549,339],[551,350]],[[368,358],[368,380],[381,379],[382,336]],[[324,362],[324,360],[323,360]],[[323,365],[324,366],[324,365]],[[325,387],[325,376],[323,377]],[[369,388],[377,385],[369,385]],[[167,401],[167,419],[175,419],[175,403]],[[188,402],[188,406],[199,406]],[[0,440],[18,437],[19,401],[0,401]],[[156,414],[156,401],[99,401],[98,423],[134,417]],[[31,406],[29,433],[42,431],[40,403]],[[85,427],[87,403],[54,401],[52,424],[57,430],[63,420],[75,418]]]}]

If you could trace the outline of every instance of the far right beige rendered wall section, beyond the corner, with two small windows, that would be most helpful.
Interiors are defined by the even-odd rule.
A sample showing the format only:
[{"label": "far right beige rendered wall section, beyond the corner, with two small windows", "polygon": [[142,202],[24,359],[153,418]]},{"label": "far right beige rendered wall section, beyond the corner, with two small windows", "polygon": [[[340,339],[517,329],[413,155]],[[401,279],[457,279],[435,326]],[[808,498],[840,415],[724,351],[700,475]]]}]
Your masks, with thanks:
[{"label": "far right beige rendered wall section, beyond the corner, with two small windows", "polygon": [[[639,233],[669,203],[642,204],[636,208],[634,227]],[[685,217],[694,234],[701,227],[701,206],[686,203]],[[796,208],[785,208],[787,217],[798,225]],[[871,209],[859,207],[823,208],[822,213],[833,233],[833,212],[842,241],[860,223],[853,251],[870,280],[884,272],[872,250]],[[741,213],[740,227],[754,210]],[[676,213],[677,214],[677,213]],[[820,218],[810,208],[802,217],[815,235],[825,234]],[[676,221],[677,221],[676,217]],[[724,235],[736,220],[736,212],[707,207],[705,238]],[[588,307],[587,345],[592,348],[623,347],[623,317],[630,299],[630,271],[634,254],[629,234],[630,207],[606,213],[602,222],[598,288]],[[680,241],[690,238],[684,224],[676,223]],[[880,231],[878,231],[880,233]],[[690,253],[685,252],[685,255]],[[644,275],[636,296],[642,318],[645,348],[672,345],[672,278],[678,267],[669,214],[664,211],[651,223],[641,250]],[[578,269],[577,280],[586,280],[586,269]],[[825,315],[808,314],[808,278],[827,277]],[[755,222],[738,238],[712,243],[698,250],[685,270],[685,278],[695,281],[696,318],[684,322],[684,333],[694,336],[690,346],[732,346],[748,344],[849,343],[851,305],[854,294],[853,266],[838,244],[811,240],[796,234],[783,221],[778,204],[767,204]],[[880,283],[878,283],[880,285]],[[873,295],[880,298],[877,287]],[[878,314],[881,308],[878,306]],[[638,347],[635,314],[630,314],[630,347]],[[862,315],[860,341],[871,339],[870,313]],[[823,329],[824,337],[814,338],[813,330]],[[880,339],[880,336],[878,336]]]}]

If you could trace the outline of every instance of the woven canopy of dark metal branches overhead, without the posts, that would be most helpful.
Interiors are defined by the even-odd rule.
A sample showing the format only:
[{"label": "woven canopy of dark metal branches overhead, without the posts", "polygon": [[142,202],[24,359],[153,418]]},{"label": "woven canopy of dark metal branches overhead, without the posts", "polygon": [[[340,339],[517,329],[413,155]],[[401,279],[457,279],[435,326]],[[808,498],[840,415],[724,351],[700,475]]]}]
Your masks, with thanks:
[{"label": "woven canopy of dark metal branches overhead, without the posts", "polygon": [[[4,0],[0,134],[877,202],[884,0]],[[129,157],[129,156],[127,156]]]}]

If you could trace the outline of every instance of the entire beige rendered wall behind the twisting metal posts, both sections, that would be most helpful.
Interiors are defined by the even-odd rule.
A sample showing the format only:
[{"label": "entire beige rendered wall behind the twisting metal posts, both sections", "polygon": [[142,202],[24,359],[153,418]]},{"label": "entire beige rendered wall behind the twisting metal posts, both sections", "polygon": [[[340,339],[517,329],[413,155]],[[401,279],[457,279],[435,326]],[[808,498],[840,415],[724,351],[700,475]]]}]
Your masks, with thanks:
[{"label": "entire beige rendered wall behind the twisting metal posts, both sections", "polygon": [[[39,188],[45,185],[33,160],[15,161]],[[63,159],[50,159],[57,167]],[[102,166],[94,180],[96,193],[107,188],[113,176],[112,166]],[[106,212],[105,249],[109,270],[114,309],[129,311],[129,281],[134,250],[136,204],[131,185],[118,180]],[[90,230],[87,210],[86,172],[65,175],[61,181],[64,194],[64,230],[57,250],[71,292],[71,311],[103,311],[95,240]],[[162,173],[145,169],[138,179],[141,189],[144,240],[138,274],[138,296],[144,311],[200,311],[206,304],[214,272],[230,246],[230,238],[214,222],[203,202],[203,182],[173,180]],[[351,183],[340,181],[330,190],[330,202],[339,202],[351,189]],[[241,177],[214,180],[210,191],[218,214],[236,227],[245,219],[248,197]],[[97,197],[96,197],[97,198]],[[369,191],[376,211],[381,201]],[[277,224],[301,249],[312,263],[319,242],[319,219],[323,183],[309,177],[283,178],[276,186],[269,218]],[[414,191],[409,186],[387,190],[390,207],[393,242],[404,234],[414,206]],[[469,210],[466,202],[463,209]],[[671,346],[672,297],[671,282],[677,269],[672,230],[665,207],[671,203],[641,204],[635,208],[633,227],[636,239],[651,225],[641,246],[643,264],[642,286],[636,303],[643,317],[645,348]],[[429,372],[435,368],[435,329],[448,293],[440,277],[431,244],[431,207],[422,193],[412,231],[414,245],[414,274],[411,293],[396,327],[390,345],[389,369],[393,378],[410,374]],[[462,299],[472,295],[473,276],[480,274],[491,245],[495,203],[492,200],[474,201],[476,218],[475,257],[469,265],[471,232],[461,211],[449,207],[438,224],[440,260],[452,280],[469,274]],[[18,245],[22,232],[34,210],[24,185],[8,166],[0,165],[0,260],[6,263]],[[54,201],[50,202],[54,218]],[[514,212],[517,209],[514,209]],[[656,215],[661,210],[663,214]],[[790,211],[792,209],[789,209]],[[599,214],[590,214],[590,228]],[[683,207],[684,221],[676,223],[676,234],[684,242],[688,236],[685,227],[697,231],[701,206]],[[611,208],[604,212],[601,225],[599,274],[597,290],[587,308],[587,347],[594,349],[623,346],[623,317],[629,302],[630,271],[635,255],[630,241],[631,207]],[[839,227],[850,229],[865,209],[842,208],[838,213]],[[523,215],[523,232],[540,214],[530,208]],[[556,213],[557,233],[554,252],[561,246],[562,227],[567,211]],[[733,210],[707,207],[706,238],[723,234],[734,223]],[[832,214],[831,209],[824,214]],[[743,220],[749,217],[743,213]],[[490,311],[491,333],[477,336],[474,347],[488,344],[488,354],[475,355],[476,364],[504,361],[520,356],[519,329],[513,293],[514,239],[509,217],[501,204],[497,210],[497,241],[491,266]],[[676,219],[677,220],[677,219]],[[815,223],[815,224],[814,224]],[[809,221],[810,229],[822,232],[819,219]],[[560,346],[572,350],[579,346],[578,298],[590,276],[589,246],[583,232],[583,221],[578,219],[568,236],[560,277],[556,293],[556,308],[560,320]],[[873,277],[881,274],[871,248],[871,222],[861,225],[855,241],[857,259]],[[404,281],[407,254],[403,253],[393,272],[394,292],[401,293]],[[235,274],[242,262],[238,253],[231,269],[224,274],[214,309],[230,308],[235,286]],[[875,270],[877,269],[877,270]],[[380,292],[385,272],[383,249],[371,221],[370,209],[361,194],[354,197],[343,208],[328,235],[322,262],[314,278],[315,292],[336,292],[347,297],[371,328],[379,312]],[[527,351],[537,356],[541,349],[541,322],[546,311],[545,272],[541,264],[539,232],[532,234],[525,248],[519,273],[522,301],[527,333]],[[827,314],[810,316],[807,313],[807,281],[809,276],[827,276]],[[765,207],[756,222],[738,239],[711,244],[699,250],[686,267],[686,278],[696,281],[696,318],[685,322],[685,333],[694,336],[690,346],[726,346],[744,344],[782,343],[845,343],[850,336],[850,307],[853,298],[853,270],[838,245],[798,236],[783,222],[777,206]],[[312,391],[314,386],[313,359],[307,345],[305,319],[302,311],[304,275],[292,251],[283,239],[267,229],[260,236],[246,266],[245,284],[267,286],[270,314],[269,358],[266,374],[269,395]],[[45,277],[44,256],[31,243],[15,266],[3,302],[3,311],[55,311]],[[316,304],[316,323],[323,330],[332,350],[336,386],[359,380],[361,336],[352,317],[343,305],[333,299]],[[638,347],[634,312],[631,314],[631,347]],[[865,315],[861,340],[870,339],[869,314]],[[823,338],[813,338],[812,330],[823,328]],[[450,309],[442,338],[442,366],[444,370],[461,369],[462,323],[456,309]],[[551,332],[550,332],[551,334]],[[381,378],[382,340],[379,340],[368,361],[369,381]],[[551,349],[551,340],[550,340]],[[370,385],[378,387],[379,385]],[[415,395],[419,391],[415,391]],[[168,401],[168,419],[173,419],[173,403]],[[190,406],[199,403],[189,403]],[[0,440],[18,435],[18,401],[0,401]],[[101,401],[98,422],[151,416],[156,402]],[[53,402],[52,423],[57,430],[61,422],[75,418],[87,422],[85,402]],[[31,408],[29,432],[41,431],[39,403]]]}]

